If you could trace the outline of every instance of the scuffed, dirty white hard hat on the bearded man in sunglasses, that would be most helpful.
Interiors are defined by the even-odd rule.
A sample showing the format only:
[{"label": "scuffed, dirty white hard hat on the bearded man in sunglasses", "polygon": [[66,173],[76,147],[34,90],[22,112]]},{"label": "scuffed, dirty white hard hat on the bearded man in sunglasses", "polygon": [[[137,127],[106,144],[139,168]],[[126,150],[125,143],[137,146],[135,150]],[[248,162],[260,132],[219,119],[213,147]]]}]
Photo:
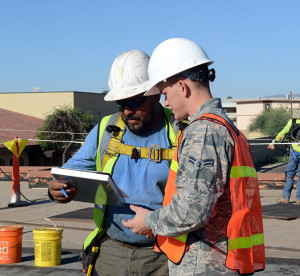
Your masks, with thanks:
[{"label": "scuffed, dirty white hard hat on the bearded man in sunglasses", "polygon": [[146,92],[150,88],[148,77],[149,56],[132,50],[119,55],[113,62],[105,101],[117,101]]}]

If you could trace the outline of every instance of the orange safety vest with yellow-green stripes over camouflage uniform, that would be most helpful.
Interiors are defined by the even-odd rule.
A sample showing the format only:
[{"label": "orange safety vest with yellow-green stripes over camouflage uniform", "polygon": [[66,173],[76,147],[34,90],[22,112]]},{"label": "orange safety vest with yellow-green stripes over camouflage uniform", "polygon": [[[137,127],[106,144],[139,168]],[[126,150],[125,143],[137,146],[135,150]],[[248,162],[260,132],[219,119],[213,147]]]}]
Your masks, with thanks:
[{"label": "orange safety vest with yellow-green stripes over camouflage uniform", "polygon": [[[257,173],[250,155],[249,144],[245,136],[238,135],[222,117],[206,113],[197,120],[211,120],[225,125],[234,142],[234,159],[230,170],[231,216],[227,225],[226,267],[247,274],[265,268],[265,246],[262,223],[262,211]],[[163,206],[170,204],[177,193],[175,180],[178,167],[178,147],[172,161],[165,188]],[[169,260],[178,264],[182,260],[187,246],[187,234],[179,237],[156,236],[155,251],[161,251]]]}]

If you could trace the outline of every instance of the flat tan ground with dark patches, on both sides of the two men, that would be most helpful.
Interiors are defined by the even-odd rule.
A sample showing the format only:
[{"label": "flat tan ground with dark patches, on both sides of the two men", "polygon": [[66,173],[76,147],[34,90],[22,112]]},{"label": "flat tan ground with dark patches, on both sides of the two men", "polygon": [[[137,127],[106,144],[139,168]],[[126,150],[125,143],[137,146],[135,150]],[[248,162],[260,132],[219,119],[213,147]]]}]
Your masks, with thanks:
[{"label": "flat tan ground with dark patches, on both sides of the two men", "polygon": [[[22,260],[19,263],[0,265],[0,276],[85,275],[78,258],[85,238],[95,228],[92,220],[93,205],[83,202],[52,202],[48,198],[47,189],[29,189],[28,182],[21,182],[21,192],[26,197],[25,199],[21,196],[24,206],[8,207],[11,200],[11,182],[0,181],[0,225],[24,227]],[[262,205],[270,206],[280,197],[281,189],[261,189],[260,194]],[[294,202],[295,190],[291,204]],[[267,265],[263,272],[255,275],[300,275],[299,218],[300,213],[298,218],[293,219],[263,216]],[[61,265],[35,265],[32,231],[40,227],[63,228]]]}]

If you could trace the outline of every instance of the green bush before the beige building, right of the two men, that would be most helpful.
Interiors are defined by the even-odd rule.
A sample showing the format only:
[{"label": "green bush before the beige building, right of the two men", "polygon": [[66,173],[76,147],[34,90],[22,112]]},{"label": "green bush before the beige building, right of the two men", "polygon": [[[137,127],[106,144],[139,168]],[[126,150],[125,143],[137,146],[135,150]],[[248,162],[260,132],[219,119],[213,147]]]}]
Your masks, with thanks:
[{"label": "green bush before the beige building, right of the two men", "polygon": [[285,127],[290,118],[291,111],[288,108],[269,109],[251,120],[249,130],[260,131],[266,136],[275,137]]}]

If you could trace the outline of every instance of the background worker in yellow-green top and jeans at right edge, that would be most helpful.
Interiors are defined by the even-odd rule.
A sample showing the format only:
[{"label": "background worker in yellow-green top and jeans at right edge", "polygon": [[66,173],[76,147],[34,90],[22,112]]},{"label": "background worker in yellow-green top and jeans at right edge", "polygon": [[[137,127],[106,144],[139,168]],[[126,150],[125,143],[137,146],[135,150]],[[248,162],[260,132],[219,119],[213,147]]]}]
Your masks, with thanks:
[{"label": "background worker in yellow-green top and jeans at right edge", "polygon": [[[274,150],[275,143],[281,142],[284,137],[289,135],[291,142],[300,141],[300,119],[290,119],[286,126],[277,134],[271,144],[268,145],[268,149]],[[277,199],[278,203],[290,203],[290,197],[294,186],[294,177],[298,171],[297,180],[297,192],[296,192],[296,204],[300,205],[300,143],[292,144],[290,147],[290,155],[288,165],[286,167],[285,176],[286,181],[282,191],[281,198]]]}]

